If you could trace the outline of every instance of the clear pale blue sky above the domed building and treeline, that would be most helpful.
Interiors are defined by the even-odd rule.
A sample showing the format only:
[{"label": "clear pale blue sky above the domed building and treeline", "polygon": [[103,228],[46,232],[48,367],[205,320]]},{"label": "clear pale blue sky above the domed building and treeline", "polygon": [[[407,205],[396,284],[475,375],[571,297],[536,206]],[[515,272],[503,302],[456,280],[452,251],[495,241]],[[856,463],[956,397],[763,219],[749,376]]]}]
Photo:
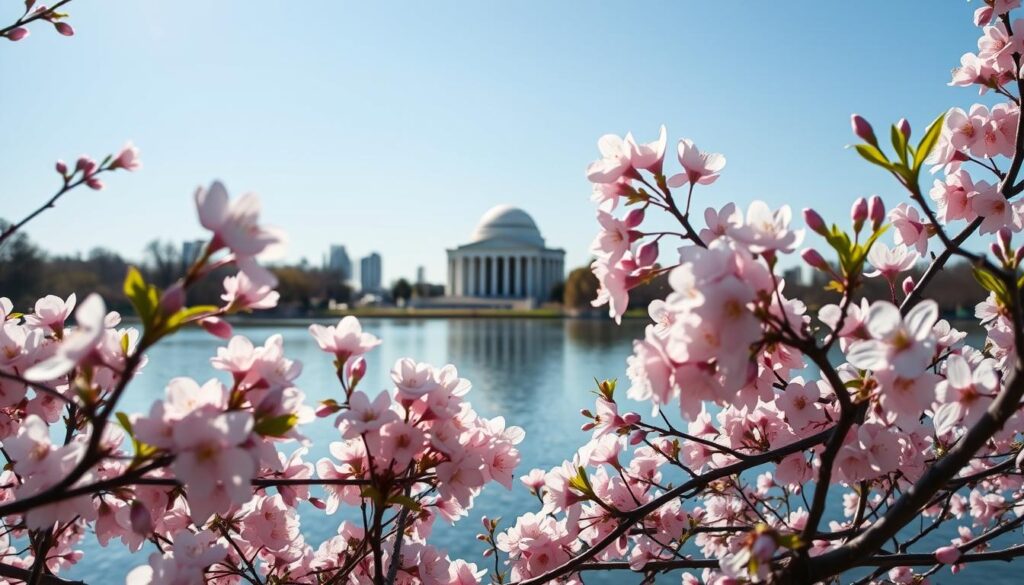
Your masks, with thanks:
[{"label": "clear pale blue sky above the domed building and treeline", "polygon": [[[19,2],[5,2],[4,20]],[[57,186],[52,163],[125,139],[144,167],[33,223],[53,252],[138,258],[201,237],[213,178],[262,196],[290,257],[379,251],[386,281],[444,275],[498,203],[526,209],[568,266],[595,233],[584,169],[605,132],[690,137],[728,166],[695,206],[764,199],[845,215],[902,194],[852,151],[849,115],[919,132],[973,90],[977,3],[78,0],[78,34],[0,47],[0,215]],[[925,9],[927,7],[927,10]],[[884,129],[883,129],[884,130]]]}]

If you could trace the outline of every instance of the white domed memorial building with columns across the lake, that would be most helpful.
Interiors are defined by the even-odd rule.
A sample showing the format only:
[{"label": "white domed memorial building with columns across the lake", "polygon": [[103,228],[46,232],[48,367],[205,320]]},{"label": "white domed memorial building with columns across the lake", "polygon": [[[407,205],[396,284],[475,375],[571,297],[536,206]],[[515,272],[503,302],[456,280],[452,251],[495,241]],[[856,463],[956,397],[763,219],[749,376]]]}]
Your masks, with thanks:
[{"label": "white domed memorial building with columns across the lake", "polygon": [[450,297],[548,300],[563,280],[565,251],[548,248],[534,218],[510,205],[483,214],[469,243],[447,251]]}]

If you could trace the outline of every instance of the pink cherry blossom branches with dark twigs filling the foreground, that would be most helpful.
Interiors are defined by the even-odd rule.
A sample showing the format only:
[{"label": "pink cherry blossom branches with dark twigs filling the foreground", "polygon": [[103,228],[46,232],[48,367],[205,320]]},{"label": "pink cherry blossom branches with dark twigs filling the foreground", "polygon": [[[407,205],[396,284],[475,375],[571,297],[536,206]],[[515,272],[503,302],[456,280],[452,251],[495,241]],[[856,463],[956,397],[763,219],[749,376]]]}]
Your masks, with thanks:
[{"label": "pink cherry blossom branches with dark twigs filling the foreground", "polygon": [[[70,34],[55,12],[67,2],[30,0],[0,36],[24,39],[36,20]],[[627,379],[597,383],[582,447],[520,477],[536,510],[483,518],[493,566],[452,558],[431,529],[466,516],[487,485],[513,488],[522,430],[477,415],[452,365],[402,359],[391,388],[365,389],[364,357],[386,340],[351,317],[310,326],[338,385],[335,399],[307,404],[283,337],[257,345],[226,320],[279,300],[265,260],[284,235],[261,222],[257,196],[232,199],[216,181],[197,190],[209,238],[191,266],[164,290],[137,269],[125,278],[138,327],[96,294],[34,307],[0,298],[0,580],[67,582],[61,570],[89,561],[76,549],[89,533],[148,552],[129,585],[535,585],[594,572],[687,585],[923,583],[1024,555],[1019,5],[978,8],[978,51],[952,75],[994,103],[952,108],[920,138],[900,120],[886,145],[852,117],[855,152],[905,192],[888,210],[861,198],[849,222],[806,209],[798,226],[787,206],[727,203],[701,224],[694,205],[724,156],[682,139],[670,170],[664,127],[651,142],[599,139],[587,169],[600,225],[594,304],[618,321],[631,289],[668,275],[671,292],[650,304]],[[98,163],[58,162],[55,195],[4,228],[0,246],[75,189],[139,166],[131,144]],[[655,214],[674,226],[645,227]],[[801,249],[805,236],[817,247]],[[780,266],[798,254],[834,302],[787,296]],[[987,291],[979,347],[929,298],[954,258]],[[188,290],[225,266],[237,275],[223,302],[187,305]],[[885,280],[889,298],[865,298],[867,279]],[[148,412],[120,410],[151,350],[187,327],[224,340],[210,357],[220,377],[176,377]],[[628,412],[624,393],[647,408]],[[315,419],[333,422],[337,441],[311,461],[303,428]],[[357,519],[306,542],[303,520],[346,511]]]}]

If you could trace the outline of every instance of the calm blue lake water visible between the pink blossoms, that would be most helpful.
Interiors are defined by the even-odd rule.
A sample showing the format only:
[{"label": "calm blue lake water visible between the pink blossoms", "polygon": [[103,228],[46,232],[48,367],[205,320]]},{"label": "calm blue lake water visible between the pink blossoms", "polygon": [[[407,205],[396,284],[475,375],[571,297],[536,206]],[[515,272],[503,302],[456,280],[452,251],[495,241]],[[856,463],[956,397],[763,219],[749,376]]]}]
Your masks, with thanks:
[{"label": "calm blue lake water visible between the pink blossoms", "polygon": [[[583,445],[589,433],[579,430],[580,410],[592,408],[594,378],[620,378],[625,381],[626,358],[632,340],[643,333],[643,322],[615,326],[609,321],[526,320],[526,319],[455,319],[455,320],[365,320],[366,330],[383,340],[367,357],[367,378],[360,388],[373,393],[390,387],[388,371],[399,358],[414,358],[437,366],[455,364],[460,375],[468,378],[473,389],[467,399],[482,416],[504,416],[509,424],[522,426],[526,438],[519,446],[522,462],[518,473],[534,467],[544,469],[560,464]],[[303,364],[298,386],[306,392],[307,403],[339,398],[331,359],[323,353],[304,327],[251,327],[240,333],[262,343],[274,333],[285,338],[286,356]],[[147,412],[164,386],[174,376],[187,375],[200,382],[219,377],[209,359],[222,342],[200,331],[183,331],[162,342],[153,352],[144,372],[129,387],[123,408],[127,412]],[[620,392],[622,395],[625,392]],[[623,396],[625,399],[625,396]],[[632,408],[643,414],[641,405]],[[304,431],[311,440],[309,461],[328,455],[328,445],[339,436],[329,420],[318,420]],[[285,448],[291,452],[292,446]],[[494,484],[477,498],[470,516],[454,528],[438,521],[431,542],[446,548],[453,557],[493,568],[481,557],[482,544],[475,540],[479,517],[502,516],[509,521],[525,511],[536,511],[537,501],[516,482],[512,491]],[[302,531],[314,547],[336,533],[341,515],[324,516],[306,505],[301,507]],[[838,502],[829,506],[825,520],[841,519]],[[505,523],[504,526],[508,526]],[[926,538],[919,550],[933,550],[947,544],[950,534],[943,531]],[[87,536],[81,548],[85,561],[67,573],[90,584],[123,583],[128,571],[145,562],[147,552],[131,555],[126,549],[112,546],[100,549],[94,537]],[[1012,582],[1014,565],[975,566],[968,575],[975,578]],[[588,574],[589,584],[638,582],[639,576]],[[951,580],[948,570],[940,572],[933,583]],[[847,582],[847,579],[843,580]],[[658,583],[678,583],[678,573]]]}]

